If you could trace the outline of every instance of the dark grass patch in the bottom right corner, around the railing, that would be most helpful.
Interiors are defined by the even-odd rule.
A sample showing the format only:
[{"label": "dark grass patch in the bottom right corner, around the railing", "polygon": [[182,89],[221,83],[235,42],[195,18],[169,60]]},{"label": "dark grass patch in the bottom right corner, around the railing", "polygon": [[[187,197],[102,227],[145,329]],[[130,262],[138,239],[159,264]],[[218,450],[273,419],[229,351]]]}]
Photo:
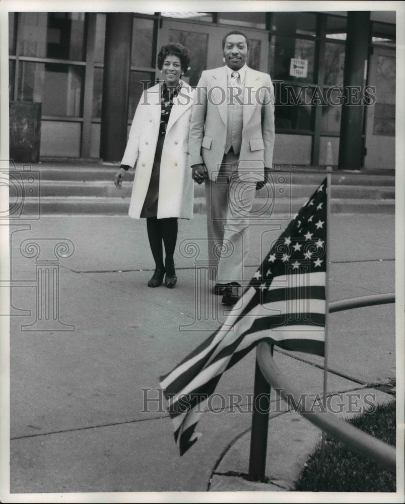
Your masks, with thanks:
[{"label": "dark grass patch in the bottom right corner, around the railing", "polygon": [[[349,420],[355,427],[395,446],[395,401]],[[320,444],[296,482],[300,492],[395,492],[395,471],[357,454],[329,435],[325,437],[324,473]]]}]

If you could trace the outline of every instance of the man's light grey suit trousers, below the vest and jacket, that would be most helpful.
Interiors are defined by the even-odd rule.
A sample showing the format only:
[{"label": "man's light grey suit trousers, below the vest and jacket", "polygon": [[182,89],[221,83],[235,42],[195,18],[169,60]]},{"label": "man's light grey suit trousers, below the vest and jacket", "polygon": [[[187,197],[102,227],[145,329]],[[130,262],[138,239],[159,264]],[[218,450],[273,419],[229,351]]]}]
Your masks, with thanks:
[{"label": "man's light grey suit trousers, below the vest and jacket", "polygon": [[[223,158],[217,179],[206,179],[209,278],[218,283],[241,283],[248,254],[249,212],[256,182],[238,176],[239,156],[231,149]],[[217,275],[215,272],[218,271]]]}]

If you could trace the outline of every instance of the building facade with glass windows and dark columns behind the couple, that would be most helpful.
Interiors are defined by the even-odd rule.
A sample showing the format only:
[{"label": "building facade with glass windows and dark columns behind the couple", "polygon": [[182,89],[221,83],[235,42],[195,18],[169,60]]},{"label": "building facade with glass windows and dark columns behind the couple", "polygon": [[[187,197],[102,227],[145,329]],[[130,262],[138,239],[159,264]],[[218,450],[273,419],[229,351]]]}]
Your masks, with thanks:
[{"label": "building facade with glass windows and dark columns behind the couple", "polygon": [[335,166],[395,168],[391,11],[10,13],[10,102],[42,104],[42,158],[118,161],[140,95],[159,78],[159,48],[188,48],[196,86],[223,65],[232,28],[251,40],[249,66],[275,83],[275,164],[323,166],[330,142]]}]

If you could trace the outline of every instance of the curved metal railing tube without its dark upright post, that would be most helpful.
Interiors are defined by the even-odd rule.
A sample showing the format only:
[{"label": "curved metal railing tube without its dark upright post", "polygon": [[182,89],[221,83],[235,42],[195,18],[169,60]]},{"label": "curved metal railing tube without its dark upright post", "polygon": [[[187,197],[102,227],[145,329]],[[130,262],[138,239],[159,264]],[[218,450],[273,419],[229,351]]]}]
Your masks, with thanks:
[{"label": "curved metal railing tube without its dark upright post", "polygon": [[[344,299],[330,302],[329,312],[353,309],[361,306],[372,306],[375,304],[393,303],[394,301],[394,294],[379,294]],[[290,399],[291,397],[297,399],[300,397],[299,391],[288,383],[287,379],[275,364],[270,344],[262,342],[258,345],[257,363],[268,384],[281,389],[280,394],[283,398],[287,399],[289,396]],[[299,404],[299,402],[296,401],[296,404]],[[395,470],[396,459],[394,447],[354,427],[344,419],[336,417],[336,415],[331,412],[305,412],[300,411],[300,408],[297,408],[297,412],[331,436],[339,439],[342,443],[349,445],[350,448],[358,453],[365,455],[386,468]]]}]

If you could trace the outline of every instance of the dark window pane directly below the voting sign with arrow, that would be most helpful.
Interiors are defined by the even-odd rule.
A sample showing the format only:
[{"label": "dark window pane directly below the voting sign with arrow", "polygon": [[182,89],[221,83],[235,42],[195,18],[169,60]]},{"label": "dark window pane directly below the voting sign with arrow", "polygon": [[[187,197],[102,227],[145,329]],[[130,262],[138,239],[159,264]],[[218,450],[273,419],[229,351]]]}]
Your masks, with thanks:
[{"label": "dark window pane directly below the voting sign with arrow", "polygon": [[278,130],[313,130],[314,88],[275,83],[275,124]]}]

